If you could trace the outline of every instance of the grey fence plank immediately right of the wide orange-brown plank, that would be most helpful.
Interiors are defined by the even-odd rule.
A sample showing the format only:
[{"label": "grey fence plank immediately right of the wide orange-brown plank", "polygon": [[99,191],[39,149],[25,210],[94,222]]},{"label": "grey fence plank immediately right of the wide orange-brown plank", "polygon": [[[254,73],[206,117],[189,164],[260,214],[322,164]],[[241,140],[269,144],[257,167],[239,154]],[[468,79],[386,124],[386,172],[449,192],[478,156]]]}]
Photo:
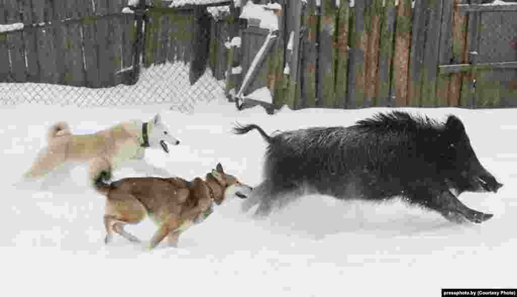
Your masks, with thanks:
[{"label": "grey fence plank immediately right of the wide orange-brown plank", "polygon": [[420,95],[422,92],[422,63],[425,44],[425,29],[427,19],[427,0],[416,0],[415,11],[413,12],[413,31],[411,41],[411,52],[409,58],[409,81],[407,105],[420,106]]}]

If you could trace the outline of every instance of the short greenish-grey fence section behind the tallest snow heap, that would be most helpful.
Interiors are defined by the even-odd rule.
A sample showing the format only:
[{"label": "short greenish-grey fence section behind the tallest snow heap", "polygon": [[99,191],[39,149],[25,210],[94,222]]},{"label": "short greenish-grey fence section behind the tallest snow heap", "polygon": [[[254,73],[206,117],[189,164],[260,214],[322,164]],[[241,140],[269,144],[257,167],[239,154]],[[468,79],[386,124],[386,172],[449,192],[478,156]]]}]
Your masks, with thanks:
[{"label": "short greenish-grey fence section behind the tallest snow heap", "polygon": [[211,18],[206,6],[169,8],[169,4],[157,2],[157,7],[147,11],[144,65],[192,62],[191,83],[207,65],[217,80],[224,80],[230,18]]}]

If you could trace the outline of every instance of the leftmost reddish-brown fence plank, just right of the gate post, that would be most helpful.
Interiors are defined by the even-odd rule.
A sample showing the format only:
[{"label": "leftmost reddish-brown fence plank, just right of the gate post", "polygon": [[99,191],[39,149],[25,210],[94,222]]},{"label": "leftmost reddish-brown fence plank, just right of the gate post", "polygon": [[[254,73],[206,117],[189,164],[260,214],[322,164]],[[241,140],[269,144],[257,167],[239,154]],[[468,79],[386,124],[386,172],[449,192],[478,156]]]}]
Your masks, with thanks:
[{"label": "leftmost reddish-brown fence plank, just right of the gate post", "polygon": [[[346,2],[348,2],[346,0]],[[305,25],[307,28],[306,39],[303,44],[303,64],[302,64],[302,97],[305,102],[304,107],[316,106],[316,0],[308,0],[304,14]]]}]

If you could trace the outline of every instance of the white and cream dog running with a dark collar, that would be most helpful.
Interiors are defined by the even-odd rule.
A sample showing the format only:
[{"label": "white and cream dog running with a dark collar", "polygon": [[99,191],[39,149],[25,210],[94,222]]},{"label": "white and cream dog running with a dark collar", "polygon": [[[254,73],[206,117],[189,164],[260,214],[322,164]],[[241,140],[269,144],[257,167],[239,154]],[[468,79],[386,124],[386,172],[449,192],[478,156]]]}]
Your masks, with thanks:
[{"label": "white and cream dog running with a dark collar", "polygon": [[102,170],[116,170],[132,167],[147,175],[169,177],[164,169],[148,164],[145,149],[161,148],[169,153],[166,143],[178,145],[157,114],[151,121],[123,122],[93,134],[74,135],[65,122],[49,128],[48,146],[44,147],[25,172],[25,179],[47,176],[50,172],[70,171],[77,162],[89,162],[89,177],[97,176]]}]

